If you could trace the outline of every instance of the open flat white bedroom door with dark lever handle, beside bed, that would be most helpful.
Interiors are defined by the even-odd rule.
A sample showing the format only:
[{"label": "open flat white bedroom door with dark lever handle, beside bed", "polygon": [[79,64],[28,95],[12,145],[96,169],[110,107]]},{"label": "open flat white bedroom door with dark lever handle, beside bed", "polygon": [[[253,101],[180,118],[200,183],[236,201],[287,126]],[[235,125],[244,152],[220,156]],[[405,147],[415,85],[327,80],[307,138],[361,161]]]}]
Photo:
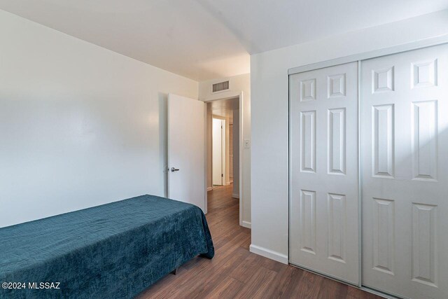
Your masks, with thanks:
[{"label": "open flat white bedroom door with dark lever handle, beside bed", "polygon": [[168,197],[204,211],[204,102],[168,95]]}]

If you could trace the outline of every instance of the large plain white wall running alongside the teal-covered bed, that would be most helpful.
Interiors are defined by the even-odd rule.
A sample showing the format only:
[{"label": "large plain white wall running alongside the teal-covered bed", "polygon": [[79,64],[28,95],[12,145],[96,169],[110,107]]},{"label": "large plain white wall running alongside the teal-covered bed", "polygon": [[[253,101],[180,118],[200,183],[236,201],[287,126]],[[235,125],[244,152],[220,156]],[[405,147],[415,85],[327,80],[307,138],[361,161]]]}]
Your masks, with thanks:
[{"label": "large plain white wall running alongside the teal-covered bed", "polygon": [[164,195],[167,93],[197,82],[4,11],[0,41],[0,227]]}]

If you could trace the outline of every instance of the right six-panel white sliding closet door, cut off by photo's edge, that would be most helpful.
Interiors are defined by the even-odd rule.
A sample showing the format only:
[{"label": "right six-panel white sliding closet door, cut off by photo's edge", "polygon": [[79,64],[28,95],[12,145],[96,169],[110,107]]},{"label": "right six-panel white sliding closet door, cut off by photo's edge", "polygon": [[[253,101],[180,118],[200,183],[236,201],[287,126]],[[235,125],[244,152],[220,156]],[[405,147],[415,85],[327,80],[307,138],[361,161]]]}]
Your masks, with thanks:
[{"label": "right six-panel white sliding closet door, cut off by photo's edge", "polygon": [[363,284],[448,298],[448,46],[361,69]]}]

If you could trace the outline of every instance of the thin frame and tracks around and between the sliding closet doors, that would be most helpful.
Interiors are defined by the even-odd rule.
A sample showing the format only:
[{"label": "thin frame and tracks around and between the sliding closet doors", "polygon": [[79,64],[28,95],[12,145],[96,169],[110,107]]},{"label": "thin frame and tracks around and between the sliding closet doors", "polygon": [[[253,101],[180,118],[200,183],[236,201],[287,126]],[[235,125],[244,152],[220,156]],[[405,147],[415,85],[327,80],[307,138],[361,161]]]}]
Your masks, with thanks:
[{"label": "thin frame and tracks around and between the sliding closet doors", "polygon": [[[316,62],[316,63],[312,63],[312,64],[305,64],[299,67],[293,67],[288,69],[288,73],[286,76],[286,82],[288,84],[288,263],[290,264],[290,201],[291,201],[291,148],[290,148],[290,93],[289,93],[289,76],[293,75],[293,74],[298,74],[298,73],[303,73],[305,71],[314,71],[316,69],[323,69],[325,67],[334,67],[338,64],[346,64],[349,62],[358,62],[358,255],[359,255],[359,283],[358,285],[356,285],[356,287],[363,289],[364,291],[367,291],[369,293],[374,293],[377,295],[381,295],[384,296],[386,298],[395,298],[393,295],[388,294],[388,293],[383,293],[381,291],[377,291],[374,290],[372,288],[368,288],[366,286],[363,286],[363,273],[362,273],[362,260],[363,260],[363,255],[362,255],[362,244],[363,244],[363,236],[362,236],[362,229],[363,229],[363,223],[362,223],[362,189],[361,189],[361,182],[362,182],[362,169],[361,169],[361,164],[360,164],[360,157],[361,157],[361,151],[360,151],[360,144],[361,144],[361,136],[360,136],[360,109],[361,109],[361,101],[360,101],[360,92],[361,92],[361,83],[360,83],[360,78],[361,78],[361,74],[360,74],[360,70],[362,67],[362,62],[363,60],[368,60],[371,58],[377,58],[377,57],[381,57],[381,56],[386,56],[386,55],[393,55],[393,54],[398,54],[398,53],[403,53],[403,52],[407,52],[407,51],[412,51],[412,50],[417,50],[417,49],[421,49],[421,48],[429,48],[432,46],[438,46],[438,45],[442,45],[444,43],[448,43],[448,34],[443,34],[442,36],[435,36],[432,38],[428,38],[428,39],[421,39],[418,41],[412,41],[409,43],[403,43],[401,45],[398,46],[392,46],[389,48],[382,48],[382,49],[378,49],[378,50],[372,50],[372,51],[368,51],[368,52],[364,52],[364,53],[358,53],[358,54],[354,54],[354,55],[349,55],[349,56],[344,56],[344,57],[339,57],[339,58],[335,58],[332,60],[325,60],[322,62]],[[292,265],[292,264],[290,264]],[[297,265],[293,265],[295,267],[299,267]],[[338,279],[337,277],[330,277],[328,276],[328,274],[324,274],[324,273],[319,273],[316,272],[314,270],[309,270],[307,268],[304,267],[299,267],[299,268],[303,268],[304,270],[307,270],[309,272],[313,272],[316,274],[319,274],[323,277],[328,277],[330,279],[334,279],[336,281],[340,281],[344,284],[349,284],[346,281],[343,281],[341,279]],[[350,284],[352,285],[352,284]]]}]

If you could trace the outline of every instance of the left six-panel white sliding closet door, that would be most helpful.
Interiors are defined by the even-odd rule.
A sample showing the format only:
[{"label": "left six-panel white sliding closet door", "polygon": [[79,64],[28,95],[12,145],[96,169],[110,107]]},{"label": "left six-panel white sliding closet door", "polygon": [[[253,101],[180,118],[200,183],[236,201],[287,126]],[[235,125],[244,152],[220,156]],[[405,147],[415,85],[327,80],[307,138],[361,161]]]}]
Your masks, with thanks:
[{"label": "left six-panel white sliding closet door", "polygon": [[358,283],[358,63],[290,76],[290,263]]}]

